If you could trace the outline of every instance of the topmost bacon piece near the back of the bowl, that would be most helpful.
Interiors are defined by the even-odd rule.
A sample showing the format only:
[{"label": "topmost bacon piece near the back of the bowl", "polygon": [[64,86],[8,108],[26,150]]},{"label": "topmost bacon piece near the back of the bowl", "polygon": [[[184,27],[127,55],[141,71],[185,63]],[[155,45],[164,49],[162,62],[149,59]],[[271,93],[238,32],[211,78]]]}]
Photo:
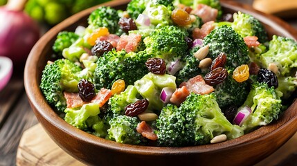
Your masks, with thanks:
[{"label": "topmost bacon piece near the back of the bowl", "polygon": [[217,9],[204,4],[199,4],[197,8],[191,12],[191,14],[201,17],[204,23],[208,21],[215,21],[217,19],[217,13]]}]

